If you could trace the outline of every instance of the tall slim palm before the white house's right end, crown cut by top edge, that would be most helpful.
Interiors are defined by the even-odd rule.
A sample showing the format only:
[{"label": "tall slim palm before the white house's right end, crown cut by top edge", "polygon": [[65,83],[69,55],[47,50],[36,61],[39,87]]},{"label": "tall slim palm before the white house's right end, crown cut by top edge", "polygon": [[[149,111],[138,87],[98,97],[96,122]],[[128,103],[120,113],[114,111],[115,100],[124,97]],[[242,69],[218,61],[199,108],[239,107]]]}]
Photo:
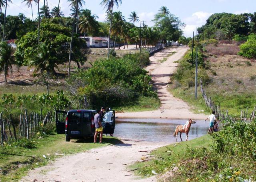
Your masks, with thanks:
[{"label": "tall slim palm before the white house's right end, crown cut by top edge", "polygon": [[116,4],[118,7],[119,4],[122,4],[122,0],[102,0],[100,5],[104,6],[106,8],[107,12],[110,12],[110,27],[109,27],[109,32],[108,32],[108,58],[109,58],[109,51],[110,51],[110,34],[111,34],[111,26],[112,26],[112,15],[113,15],[113,7]]}]

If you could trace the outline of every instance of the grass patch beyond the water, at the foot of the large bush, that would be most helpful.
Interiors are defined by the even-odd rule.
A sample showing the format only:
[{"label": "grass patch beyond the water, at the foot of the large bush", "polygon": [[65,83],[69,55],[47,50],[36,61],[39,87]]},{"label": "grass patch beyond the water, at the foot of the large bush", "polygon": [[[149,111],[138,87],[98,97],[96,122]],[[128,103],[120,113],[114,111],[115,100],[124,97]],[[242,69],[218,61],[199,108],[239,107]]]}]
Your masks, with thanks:
[{"label": "grass patch beyond the water, at the foot of the large bush", "polygon": [[117,112],[142,112],[156,110],[160,107],[161,102],[158,98],[140,97],[136,101],[128,103],[126,106],[116,107]]}]

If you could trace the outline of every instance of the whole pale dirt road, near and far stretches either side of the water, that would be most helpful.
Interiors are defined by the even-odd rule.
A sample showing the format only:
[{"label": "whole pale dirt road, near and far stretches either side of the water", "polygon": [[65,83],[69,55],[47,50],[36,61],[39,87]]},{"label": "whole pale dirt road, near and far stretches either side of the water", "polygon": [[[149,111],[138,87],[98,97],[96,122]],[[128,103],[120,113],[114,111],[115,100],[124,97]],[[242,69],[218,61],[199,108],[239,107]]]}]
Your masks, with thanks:
[{"label": "whole pale dirt road, near and far stretches either side of the water", "polygon": [[[170,76],[176,69],[174,61],[179,60],[188,48],[166,48],[150,58],[151,65],[147,70],[152,75],[154,86],[162,106],[159,110],[150,112],[119,113],[118,117],[126,118],[205,118],[204,115],[192,114],[190,107],[167,91]],[[168,54],[176,52],[168,57]],[[168,57],[163,63],[159,60]],[[103,148],[89,150],[62,157],[47,166],[31,170],[22,182],[150,182],[156,178],[140,179],[128,172],[128,164],[146,157],[151,150],[166,145],[166,143],[152,143],[136,140],[122,140],[123,144],[110,145]],[[139,152],[147,151],[147,152]]]}]

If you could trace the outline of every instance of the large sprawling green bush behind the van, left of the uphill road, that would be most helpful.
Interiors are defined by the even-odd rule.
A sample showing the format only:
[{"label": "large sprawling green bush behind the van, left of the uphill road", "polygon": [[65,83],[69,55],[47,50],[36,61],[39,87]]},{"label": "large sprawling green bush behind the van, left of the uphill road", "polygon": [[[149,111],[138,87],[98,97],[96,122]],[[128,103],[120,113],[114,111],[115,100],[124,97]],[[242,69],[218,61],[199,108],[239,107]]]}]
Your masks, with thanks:
[{"label": "large sprawling green bush behind the van, left of the uphill road", "polygon": [[120,106],[138,96],[156,96],[151,77],[143,69],[148,63],[146,53],[101,59],[92,68],[72,74],[67,82],[77,88],[78,97],[88,98],[91,108]]}]

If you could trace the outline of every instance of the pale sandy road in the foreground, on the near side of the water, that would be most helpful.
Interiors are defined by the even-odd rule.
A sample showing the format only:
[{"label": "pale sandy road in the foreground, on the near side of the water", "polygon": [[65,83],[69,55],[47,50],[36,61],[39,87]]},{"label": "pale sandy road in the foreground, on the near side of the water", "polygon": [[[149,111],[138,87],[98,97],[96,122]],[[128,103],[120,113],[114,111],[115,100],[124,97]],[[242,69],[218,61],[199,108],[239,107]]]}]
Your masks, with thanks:
[{"label": "pale sandy road in the foreground, on the near side of the water", "polygon": [[[128,172],[128,164],[148,156],[166,143],[122,140],[123,144],[89,150],[57,159],[47,166],[31,170],[22,182],[152,182],[153,177],[141,179]],[[148,151],[148,152],[139,152]]]}]

